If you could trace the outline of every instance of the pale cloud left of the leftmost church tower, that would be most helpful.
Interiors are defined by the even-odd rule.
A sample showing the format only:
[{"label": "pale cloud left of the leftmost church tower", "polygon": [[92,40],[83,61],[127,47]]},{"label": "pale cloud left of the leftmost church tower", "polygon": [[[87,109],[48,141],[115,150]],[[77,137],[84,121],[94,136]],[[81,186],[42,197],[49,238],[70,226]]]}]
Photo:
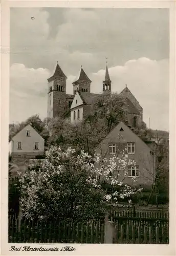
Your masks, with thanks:
[{"label": "pale cloud left of the leftmost church tower", "polygon": [[49,73],[47,69],[30,69],[21,63],[10,67],[10,122],[25,121],[34,114],[46,117]]}]

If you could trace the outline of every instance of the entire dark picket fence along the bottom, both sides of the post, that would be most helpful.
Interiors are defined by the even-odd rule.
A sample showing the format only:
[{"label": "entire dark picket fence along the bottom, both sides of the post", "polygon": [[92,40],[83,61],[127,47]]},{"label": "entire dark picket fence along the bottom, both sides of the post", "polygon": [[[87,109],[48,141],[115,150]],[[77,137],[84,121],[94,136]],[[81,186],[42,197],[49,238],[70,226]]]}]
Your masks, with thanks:
[{"label": "entire dark picket fence along the bottom, both sides of the post", "polygon": [[[156,217],[156,218],[154,218]],[[109,219],[110,220],[110,219]],[[114,240],[125,244],[168,244],[168,214],[114,212]],[[104,220],[73,223],[69,221],[31,221],[9,218],[9,243],[104,243]]]}]

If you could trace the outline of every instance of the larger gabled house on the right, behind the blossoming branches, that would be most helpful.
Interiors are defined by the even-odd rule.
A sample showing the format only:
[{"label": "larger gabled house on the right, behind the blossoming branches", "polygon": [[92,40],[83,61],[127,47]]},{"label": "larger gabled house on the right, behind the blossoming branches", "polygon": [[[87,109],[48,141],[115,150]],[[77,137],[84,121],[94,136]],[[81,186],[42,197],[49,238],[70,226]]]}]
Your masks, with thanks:
[{"label": "larger gabled house on the right, behind the blossoming branches", "polygon": [[[155,154],[123,122],[120,122],[96,147],[96,153],[109,159],[122,150],[127,150],[128,160],[135,160],[136,165],[127,166],[127,175],[120,173],[119,181],[124,179],[128,185],[151,186],[155,179]],[[119,150],[119,151],[118,151]],[[136,177],[136,182],[133,181]]]}]

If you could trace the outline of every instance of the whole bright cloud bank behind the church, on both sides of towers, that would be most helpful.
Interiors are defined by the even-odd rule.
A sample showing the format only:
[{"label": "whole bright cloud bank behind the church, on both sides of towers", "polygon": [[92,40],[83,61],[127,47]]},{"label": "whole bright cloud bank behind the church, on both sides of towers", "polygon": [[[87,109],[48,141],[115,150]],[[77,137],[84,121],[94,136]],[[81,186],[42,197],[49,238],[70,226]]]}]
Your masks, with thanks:
[{"label": "whole bright cloud bank behind the church, on both sides of towers", "polygon": [[[146,57],[128,60],[123,66],[109,67],[112,91],[120,93],[127,84],[143,108],[143,119],[152,129],[169,129],[169,61]],[[22,121],[38,113],[47,115],[48,69],[30,69],[20,63],[10,68],[10,120]],[[91,92],[102,93],[105,69],[91,73]],[[67,93],[73,94],[76,76],[67,75]]]}]

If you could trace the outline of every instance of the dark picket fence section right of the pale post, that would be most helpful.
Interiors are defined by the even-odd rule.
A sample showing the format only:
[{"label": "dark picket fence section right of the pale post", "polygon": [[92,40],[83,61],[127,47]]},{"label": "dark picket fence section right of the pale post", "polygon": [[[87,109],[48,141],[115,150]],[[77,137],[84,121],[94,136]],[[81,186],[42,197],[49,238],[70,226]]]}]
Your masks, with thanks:
[{"label": "dark picket fence section right of the pale post", "polygon": [[114,243],[169,243],[168,212],[115,211]]}]

